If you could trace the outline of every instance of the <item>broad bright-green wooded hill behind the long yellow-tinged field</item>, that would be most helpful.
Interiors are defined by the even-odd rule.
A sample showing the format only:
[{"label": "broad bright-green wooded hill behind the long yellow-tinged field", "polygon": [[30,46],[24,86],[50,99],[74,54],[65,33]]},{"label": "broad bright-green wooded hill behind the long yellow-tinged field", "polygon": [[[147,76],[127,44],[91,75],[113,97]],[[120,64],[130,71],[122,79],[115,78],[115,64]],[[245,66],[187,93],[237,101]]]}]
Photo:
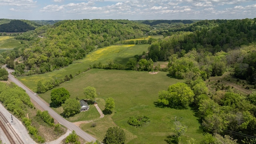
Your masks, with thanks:
[{"label": "broad bright-green wooded hill behind the long yellow-tinged field", "polygon": [[29,70],[49,72],[84,58],[95,48],[140,38],[148,31],[150,26],[128,20],[64,20],[17,36],[16,39],[31,41],[10,55],[6,62],[14,68],[14,58],[22,55]]}]

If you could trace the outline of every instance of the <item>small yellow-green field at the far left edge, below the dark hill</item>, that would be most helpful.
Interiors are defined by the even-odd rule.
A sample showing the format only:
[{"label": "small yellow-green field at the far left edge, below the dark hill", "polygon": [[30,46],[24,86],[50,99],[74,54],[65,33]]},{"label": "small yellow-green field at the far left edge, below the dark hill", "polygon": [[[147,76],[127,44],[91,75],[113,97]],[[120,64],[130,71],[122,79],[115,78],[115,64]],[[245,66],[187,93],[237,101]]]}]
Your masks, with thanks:
[{"label": "small yellow-green field at the far left edge, below the dark hill", "polygon": [[14,36],[0,36],[0,49],[12,49],[20,45],[19,40],[14,40]]}]

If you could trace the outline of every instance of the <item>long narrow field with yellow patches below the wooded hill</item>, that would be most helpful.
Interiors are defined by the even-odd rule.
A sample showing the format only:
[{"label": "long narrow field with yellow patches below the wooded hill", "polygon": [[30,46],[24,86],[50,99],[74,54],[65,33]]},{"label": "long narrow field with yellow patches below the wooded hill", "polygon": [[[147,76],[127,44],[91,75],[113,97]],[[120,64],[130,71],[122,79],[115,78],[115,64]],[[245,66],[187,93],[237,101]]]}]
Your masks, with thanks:
[{"label": "long narrow field with yellow patches below the wooded hill", "polygon": [[46,74],[36,74],[32,76],[22,76],[18,77],[23,84],[28,86],[28,88],[36,91],[36,86],[39,80],[50,80],[50,79],[60,79],[64,78],[66,75],[72,74],[75,76],[78,72],[83,72],[88,69],[91,64],[106,64],[107,60],[114,60],[119,64],[126,64],[129,58],[133,58],[134,55],[141,55],[143,51],[148,51],[149,44],[129,44],[129,45],[114,45],[107,46],[104,48],[98,48],[89,54],[82,60],[76,60],[73,64],[70,64],[68,67],[61,68],[60,70],[55,70],[53,72],[48,72]]}]

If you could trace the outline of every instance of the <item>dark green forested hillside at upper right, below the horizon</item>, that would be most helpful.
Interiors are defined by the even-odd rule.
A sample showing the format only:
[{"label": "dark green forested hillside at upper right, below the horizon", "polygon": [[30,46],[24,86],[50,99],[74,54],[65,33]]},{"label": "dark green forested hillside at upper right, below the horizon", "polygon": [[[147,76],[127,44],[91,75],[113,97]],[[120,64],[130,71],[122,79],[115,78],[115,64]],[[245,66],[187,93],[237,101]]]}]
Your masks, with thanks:
[{"label": "dark green forested hillside at upper right, below the horizon", "polygon": [[200,21],[199,24],[191,25],[191,27],[198,27],[195,31],[191,29],[193,32],[171,32],[172,36],[149,48],[149,57],[153,61],[168,60],[172,54],[180,55],[182,50],[188,52],[192,48],[196,48],[199,52],[208,51],[212,54],[221,50],[227,52],[256,40],[256,19],[225,21],[221,23]]}]

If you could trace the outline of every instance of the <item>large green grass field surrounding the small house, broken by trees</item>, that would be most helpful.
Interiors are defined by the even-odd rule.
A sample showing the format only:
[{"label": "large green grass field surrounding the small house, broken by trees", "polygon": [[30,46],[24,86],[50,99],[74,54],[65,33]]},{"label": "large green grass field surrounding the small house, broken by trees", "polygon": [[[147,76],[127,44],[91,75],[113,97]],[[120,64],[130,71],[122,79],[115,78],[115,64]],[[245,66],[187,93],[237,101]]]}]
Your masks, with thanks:
[{"label": "large green grass field surrounding the small house, broken by trees", "polygon": [[[171,108],[157,108],[154,102],[158,99],[158,91],[167,90],[168,86],[184,80],[177,80],[167,76],[168,72],[149,74],[149,72],[136,72],[131,70],[102,70],[91,69],[80,74],[60,87],[66,88],[71,98],[85,98],[83,88],[93,86],[100,94],[101,100],[109,97],[114,98],[116,108],[114,114],[99,119],[97,116],[85,116],[95,114],[94,107],[88,112],[77,114],[71,121],[95,120],[95,127],[91,123],[81,124],[80,127],[96,137],[103,140],[106,130],[110,126],[124,128],[128,144],[166,144],[168,136],[173,134],[175,117],[176,120],[188,127],[188,131],[182,136],[182,142],[195,138],[199,143],[202,140],[200,124],[190,108],[176,110]],[[40,94],[48,101],[50,92]],[[98,98],[96,99],[98,100]],[[90,112],[91,111],[91,112]],[[150,123],[146,126],[135,128],[127,124],[130,116],[149,116]],[[96,118],[97,117],[97,118]],[[76,120],[77,119],[77,120]]]}]

